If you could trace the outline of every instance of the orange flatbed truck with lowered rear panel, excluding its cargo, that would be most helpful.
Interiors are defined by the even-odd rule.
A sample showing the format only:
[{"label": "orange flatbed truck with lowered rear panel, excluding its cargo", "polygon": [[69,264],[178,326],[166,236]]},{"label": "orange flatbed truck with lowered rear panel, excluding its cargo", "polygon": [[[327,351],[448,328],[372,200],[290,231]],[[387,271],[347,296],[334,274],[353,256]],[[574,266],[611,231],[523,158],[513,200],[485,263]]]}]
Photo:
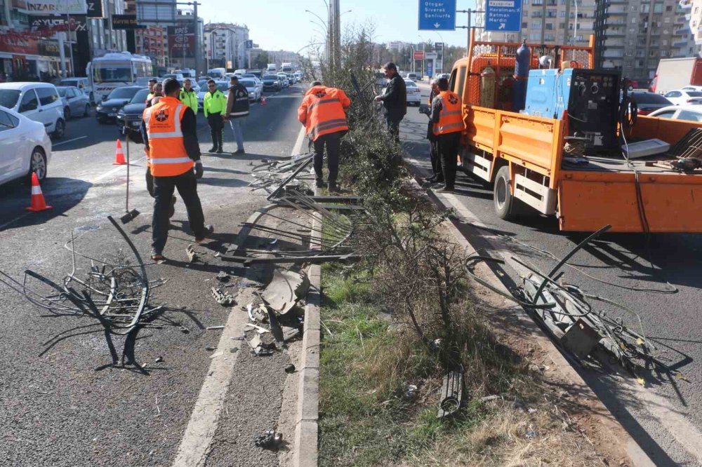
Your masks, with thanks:
[{"label": "orange flatbed truck with lowered rear panel, excluding its cargo", "polygon": [[[573,57],[575,66],[592,68],[593,42],[589,47],[529,46],[531,68],[538,67],[538,55],[551,55],[557,63]],[[498,216],[512,219],[536,210],[555,215],[564,231],[596,231],[611,224],[611,231],[618,232],[702,232],[699,168],[674,170],[670,161],[676,158],[668,154],[629,161],[621,154],[583,156],[582,163],[569,163],[571,158],[564,157],[569,156],[564,154],[567,115],[553,119],[511,111],[509,86],[520,45],[473,37],[468,57],[453,65],[449,79],[463,102],[459,159],[465,172],[494,186]],[[485,102],[480,79],[488,62],[496,74],[489,88],[494,98],[488,100],[490,107],[480,107]],[[628,144],[656,138],[673,148],[700,127],[698,122],[640,116],[623,136]],[[616,131],[621,132],[620,126]],[[702,149],[693,153],[699,158]]]}]

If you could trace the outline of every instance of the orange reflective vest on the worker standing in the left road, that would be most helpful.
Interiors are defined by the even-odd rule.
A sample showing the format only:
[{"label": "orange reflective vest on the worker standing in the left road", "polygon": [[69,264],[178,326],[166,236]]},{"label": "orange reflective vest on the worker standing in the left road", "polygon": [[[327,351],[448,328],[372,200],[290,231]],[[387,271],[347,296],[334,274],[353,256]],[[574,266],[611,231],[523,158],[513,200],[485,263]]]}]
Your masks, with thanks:
[{"label": "orange reflective vest on the worker standing in the left road", "polygon": [[180,121],[187,106],[176,97],[161,97],[158,104],[144,110],[149,137],[149,165],[154,177],[174,177],[192,170]]}]

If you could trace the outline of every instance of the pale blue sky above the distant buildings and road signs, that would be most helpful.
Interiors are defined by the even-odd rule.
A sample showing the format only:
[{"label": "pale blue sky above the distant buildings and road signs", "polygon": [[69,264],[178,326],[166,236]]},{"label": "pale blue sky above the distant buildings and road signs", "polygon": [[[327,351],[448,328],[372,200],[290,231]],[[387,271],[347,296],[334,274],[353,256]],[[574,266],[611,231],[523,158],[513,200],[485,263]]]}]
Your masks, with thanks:
[{"label": "pale blue sky above the distant buildings and road signs", "polygon": [[[447,45],[465,47],[467,29],[439,33],[419,31],[419,1],[423,0],[340,0],[341,11],[350,10],[341,16],[342,31],[350,23],[361,25],[370,20],[376,27],[373,41],[378,43],[443,41]],[[475,8],[475,0],[456,0],[456,8]],[[305,10],[316,13],[326,22],[323,0],[201,0],[198,14],[205,22],[247,25],[249,39],[264,50],[297,52],[312,42],[324,41],[319,19]],[[456,15],[457,26],[464,26],[466,22],[465,13]]]}]

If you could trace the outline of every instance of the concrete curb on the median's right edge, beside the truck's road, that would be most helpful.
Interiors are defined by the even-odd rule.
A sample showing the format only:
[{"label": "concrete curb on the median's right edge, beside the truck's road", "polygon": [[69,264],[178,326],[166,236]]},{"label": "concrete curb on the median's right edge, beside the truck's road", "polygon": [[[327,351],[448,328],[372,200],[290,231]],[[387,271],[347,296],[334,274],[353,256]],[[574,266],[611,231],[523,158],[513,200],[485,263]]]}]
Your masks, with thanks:
[{"label": "concrete curb on the median's right edge, beside the truck's road", "polygon": [[[420,184],[416,180],[417,177],[422,176],[421,169],[409,163],[412,157],[409,154],[407,154],[407,152],[404,150],[403,153],[405,165],[411,173],[411,180],[413,184],[416,185],[416,188],[422,189],[422,187],[420,187]],[[439,208],[453,208],[453,206],[444,203],[444,201],[442,201],[442,198],[437,196],[433,192],[427,190],[427,194],[431,198],[432,202],[438,205]],[[476,246],[473,244],[475,243],[476,239],[468,238],[467,235],[463,234],[461,231],[458,230],[458,228],[456,227],[456,225],[453,224],[453,222],[446,221],[444,222],[444,225],[451,232],[451,236],[453,236],[454,240],[458,245],[461,245],[463,248],[466,248],[468,250],[479,250],[479,248],[476,248]],[[473,243],[471,243],[471,240]],[[498,278],[497,274],[485,264],[482,264],[479,267],[477,267],[476,272],[479,273],[479,275],[482,276],[482,278],[488,280],[489,283],[491,283],[491,285],[493,285],[494,287],[497,287],[505,293],[510,293],[507,287],[505,287],[505,285],[502,283],[500,278]],[[583,380],[580,374],[578,374],[578,372],[574,370],[569,361],[566,360],[566,358],[555,346],[555,344],[553,344],[551,339],[548,336],[546,336],[546,334],[544,334],[538,326],[534,325],[534,322],[531,320],[531,318],[529,318],[529,316],[527,316],[526,312],[524,312],[522,308],[515,306],[515,309],[522,311],[522,314],[517,316],[518,320],[522,322],[528,322],[529,324],[531,324],[529,326],[524,327],[528,334],[528,337],[536,341],[538,346],[547,354],[548,358],[552,360],[555,366],[559,369],[560,376],[566,378],[574,388],[578,388],[578,392],[592,403],[592,405],[594,406],[592,407],[594,409],[592,410],[592,412],[595,412],[592,414],[592,417],[597,419],[600,422],[600,424],[602,424],[602,426],[607,427],[611,430],[618,431],[618,434],[621,434],[621,436],[625,438],[620,438],[620,440],[625,445],[625,454],[628,456],[628,460],[632,463],[632,465],[639,467],[654,467],[656,464],[653,461],[651,461],[651,459],[644,452],[644,450],[641,449],[637,442],[629,435],[628,431],[626,431],[625,428],[619,423],[616,417],[614,417],[614,414],[612,414],[609,411],[609,409],[604,405],[604,402],[602,402],[602,400],[597,396],[597,394],[595,394],[595,392],[592,391],[592,388],[588,386],[588,384]],[[613,435],[614,433],[615,432],[612,431]]]}]

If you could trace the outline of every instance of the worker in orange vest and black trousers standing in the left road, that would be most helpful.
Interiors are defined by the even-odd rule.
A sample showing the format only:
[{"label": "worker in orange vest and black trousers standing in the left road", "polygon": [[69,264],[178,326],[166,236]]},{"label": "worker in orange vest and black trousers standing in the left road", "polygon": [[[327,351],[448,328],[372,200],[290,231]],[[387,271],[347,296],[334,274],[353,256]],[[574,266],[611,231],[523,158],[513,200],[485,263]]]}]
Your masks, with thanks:
[{"label": "worker in orange vest and black trousers standing in the left road", "polygon": [[165,259],[168,209],[174,189],[178,189],[185,203],[195,242],[202,243],[214,231],[213,226],[205,226],[197,196],[197,179],[202,177],[203,168],[195,114],[178,100],[180,83],[176,79],[166,79],[164,91],[165,96],[157,104],[144,110],[142,122],[142,135],[154,177],[154,216],[151,221],[151,258],[154,261]]}]

